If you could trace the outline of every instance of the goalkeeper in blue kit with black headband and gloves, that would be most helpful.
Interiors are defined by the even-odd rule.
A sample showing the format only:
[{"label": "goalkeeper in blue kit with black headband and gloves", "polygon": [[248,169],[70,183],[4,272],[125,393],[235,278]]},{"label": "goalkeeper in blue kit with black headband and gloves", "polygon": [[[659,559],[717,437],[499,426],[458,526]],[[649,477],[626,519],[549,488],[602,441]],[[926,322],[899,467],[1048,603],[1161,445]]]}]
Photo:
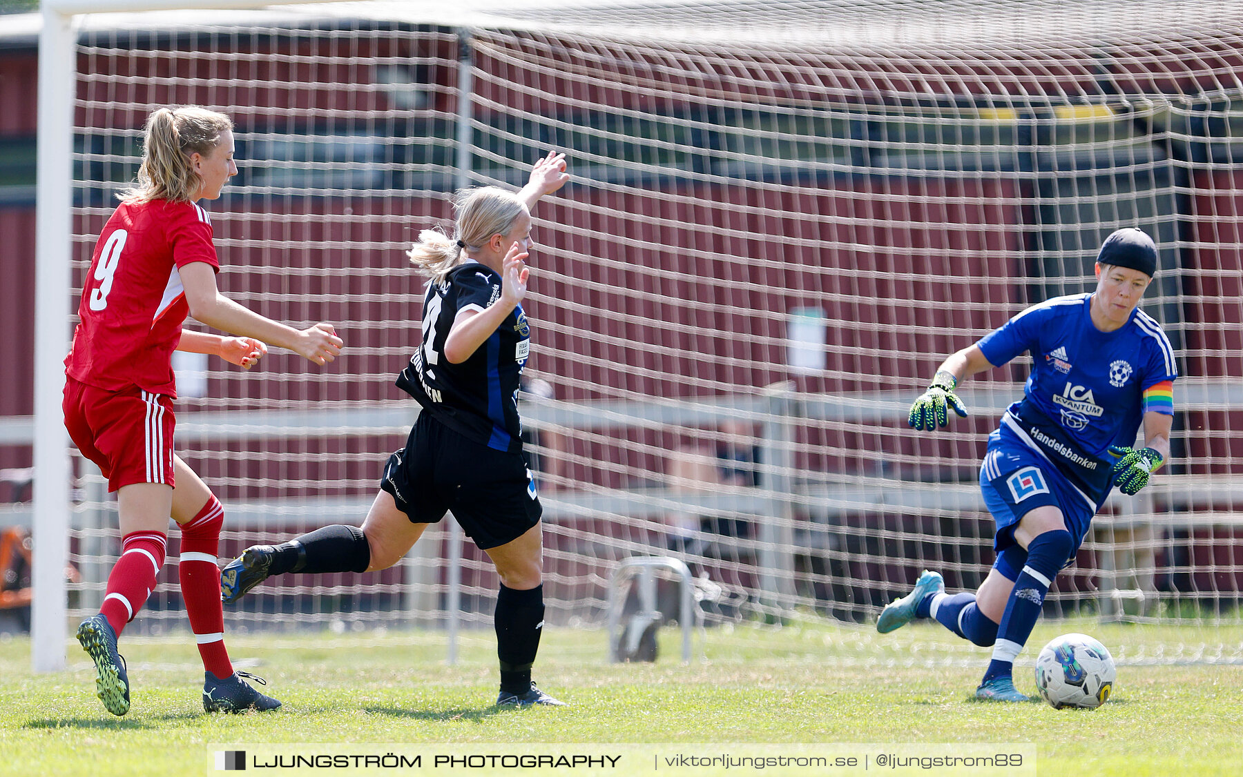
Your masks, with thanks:
[{"label": "goalkeeper in blue kit with black headband and gloves", "polygon": [[[1170,457],[1173,349],[1137,309],[1157,269],[1140,230],[1117,230],[1096,257],[1096,290],[1023,310],[948,359],[911,406],[919,431],[967,416],[955,388],[967,376],[1030,353],[1023,400],[988,436],[979,488],[996,524],[997,561],[975,593],[945,592],[924,572],[907,596],[885,607],[876,631],[935,618],[993,655],[978,699],[1027,701],[1014,688],[1014,659],[1027,643],[1058,572],[1075,559],[1093,515],[1116,485],[1134,495]],[[1144,448],[1135,447],[1144,427]]]}]

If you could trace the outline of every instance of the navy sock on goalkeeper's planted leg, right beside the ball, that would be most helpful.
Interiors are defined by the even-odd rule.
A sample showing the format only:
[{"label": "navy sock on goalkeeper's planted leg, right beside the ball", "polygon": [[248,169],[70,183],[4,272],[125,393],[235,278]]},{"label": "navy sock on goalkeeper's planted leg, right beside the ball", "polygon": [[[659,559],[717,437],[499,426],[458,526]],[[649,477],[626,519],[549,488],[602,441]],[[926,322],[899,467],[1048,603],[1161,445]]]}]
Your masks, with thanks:
[{"label": "navy sock on goalkeeper's planted leg, right beside the ball", "polygon": [[1006,614],[997,629],[993,660],[984,671],[984,683],[997,676],[1011,676],[1014,671],[1014,659],[1032,636],[1049,586],[1066,562],[1073,545],[1070,532],[1065,529],[1045,531],[1028,544],[1027,565],[1014,581],[1009,601],[1006,602]]}]

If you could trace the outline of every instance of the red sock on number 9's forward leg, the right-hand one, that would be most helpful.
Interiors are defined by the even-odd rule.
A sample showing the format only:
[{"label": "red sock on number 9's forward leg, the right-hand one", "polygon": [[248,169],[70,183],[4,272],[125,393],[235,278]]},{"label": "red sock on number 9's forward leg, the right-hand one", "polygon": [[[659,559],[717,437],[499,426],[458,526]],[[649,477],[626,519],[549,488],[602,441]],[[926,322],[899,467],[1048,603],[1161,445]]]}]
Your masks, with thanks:
[{"label": "red sock on number 9's forward leg, the right-hand one", "polygon": [[199,643],[203,668],[221,679],[232,674],[225,649],[225,616],[220,607],[220,570],[216,567],[216,545],[224,523],[224,508],[211,496],[198,515],[181,526],[181,562],[177,567],[185,614]]}]

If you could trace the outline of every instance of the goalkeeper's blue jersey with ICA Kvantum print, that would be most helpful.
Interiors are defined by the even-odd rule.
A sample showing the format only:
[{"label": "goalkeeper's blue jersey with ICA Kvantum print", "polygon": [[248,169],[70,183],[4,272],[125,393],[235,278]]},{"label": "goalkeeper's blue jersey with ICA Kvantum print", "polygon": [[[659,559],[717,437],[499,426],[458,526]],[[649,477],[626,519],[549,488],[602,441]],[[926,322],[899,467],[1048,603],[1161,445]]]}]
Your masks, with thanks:
[{"label": "goalkeeper's blue jersey with ICA Kvantum print", "polygon": [[[1144,392],[1178,376],[1161,325],[1136,308],[1114,331],[1091,323],[1091,294],[1057,297],[1023,310],[986,335],[979,350],[993,366],[1030,351],[1023,400],[1002,432],[1039,451],[1098,505],[1110,489],[1109,446],[1132,446],[1144,420]],[[1167,405],[1150,410],[1172,415]]]}]

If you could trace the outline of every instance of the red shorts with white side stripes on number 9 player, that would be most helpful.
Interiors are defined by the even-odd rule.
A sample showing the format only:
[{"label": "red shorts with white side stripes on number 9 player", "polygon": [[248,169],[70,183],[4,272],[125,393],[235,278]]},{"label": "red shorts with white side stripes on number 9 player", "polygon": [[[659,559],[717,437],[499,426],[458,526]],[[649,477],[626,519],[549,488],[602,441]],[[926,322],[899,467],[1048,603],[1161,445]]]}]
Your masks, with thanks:
[{"label": "red shorts with white side stripes on number 9 player", "polygon": [[65,428],[114,492],[133,483],[173,485],[173,400],[138,386],[104,391],[65,379]]}]

